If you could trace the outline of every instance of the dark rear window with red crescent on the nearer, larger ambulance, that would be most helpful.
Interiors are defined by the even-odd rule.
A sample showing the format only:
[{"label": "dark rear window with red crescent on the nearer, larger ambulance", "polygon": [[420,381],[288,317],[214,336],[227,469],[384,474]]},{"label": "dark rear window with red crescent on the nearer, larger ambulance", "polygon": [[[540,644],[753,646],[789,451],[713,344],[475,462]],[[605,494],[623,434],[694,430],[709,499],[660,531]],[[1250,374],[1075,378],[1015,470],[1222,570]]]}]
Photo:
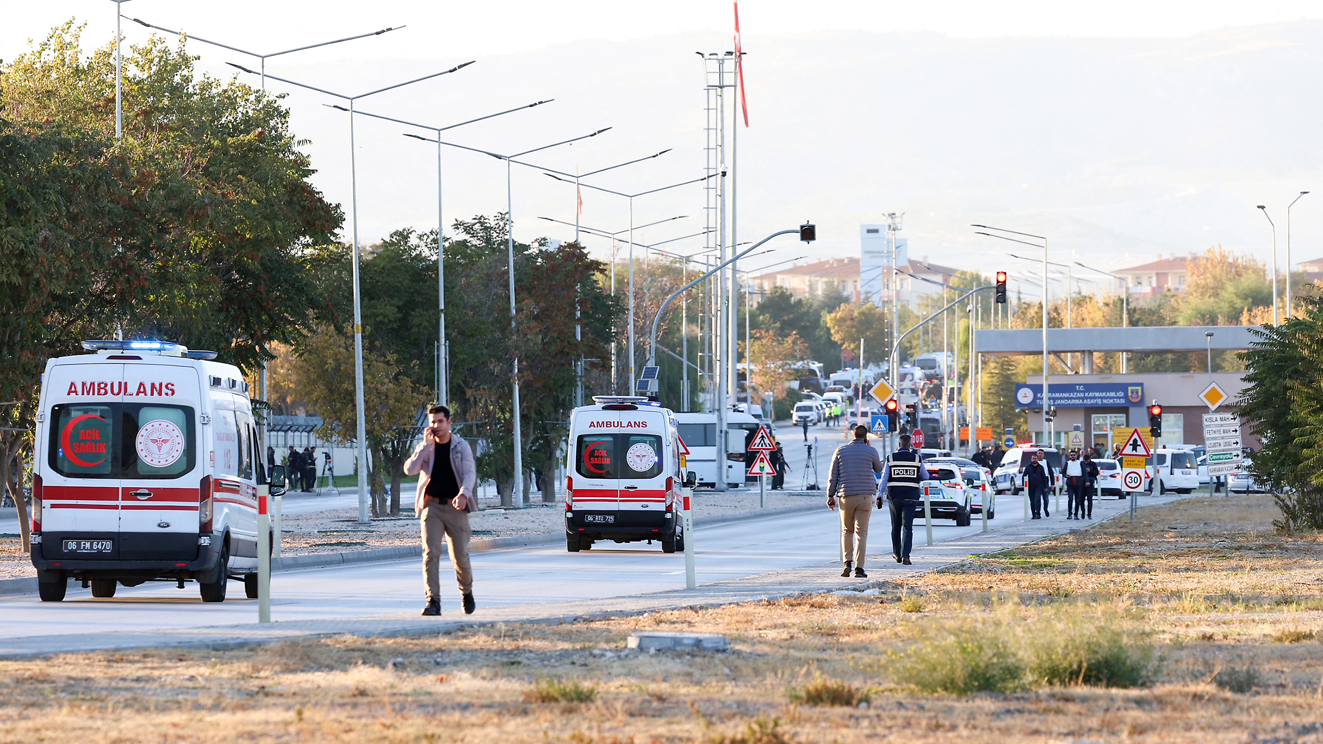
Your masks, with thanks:
[{"label": "dark rear window with red crescent on the nearer, larger ambulance", "polygon": [[173,478],[196,465],[193,408],[78,403],[50,411],[49,461],[74,478]]}]

